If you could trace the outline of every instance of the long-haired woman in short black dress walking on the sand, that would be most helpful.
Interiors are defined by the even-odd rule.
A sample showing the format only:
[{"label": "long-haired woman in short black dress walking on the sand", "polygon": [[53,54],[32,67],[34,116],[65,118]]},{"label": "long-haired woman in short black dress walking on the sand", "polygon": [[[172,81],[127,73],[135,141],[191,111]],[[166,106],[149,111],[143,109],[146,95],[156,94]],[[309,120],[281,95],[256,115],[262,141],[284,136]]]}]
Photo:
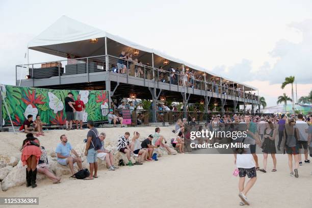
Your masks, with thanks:
[{"label": "long-haired woman in short black dress walking on the sand", "polygon": [[268,154],[271,154],[273,160],[273,169],[272,172],[276,172],[276,148],[275,148],[275,136],[276,136],[276,128],[271,121],[266,121],[266,128],[264,130],[264,142],[262,144],[262,152],[263,152],[263,169],[259,171],[266,173],[267,163],[268,163]]}]

